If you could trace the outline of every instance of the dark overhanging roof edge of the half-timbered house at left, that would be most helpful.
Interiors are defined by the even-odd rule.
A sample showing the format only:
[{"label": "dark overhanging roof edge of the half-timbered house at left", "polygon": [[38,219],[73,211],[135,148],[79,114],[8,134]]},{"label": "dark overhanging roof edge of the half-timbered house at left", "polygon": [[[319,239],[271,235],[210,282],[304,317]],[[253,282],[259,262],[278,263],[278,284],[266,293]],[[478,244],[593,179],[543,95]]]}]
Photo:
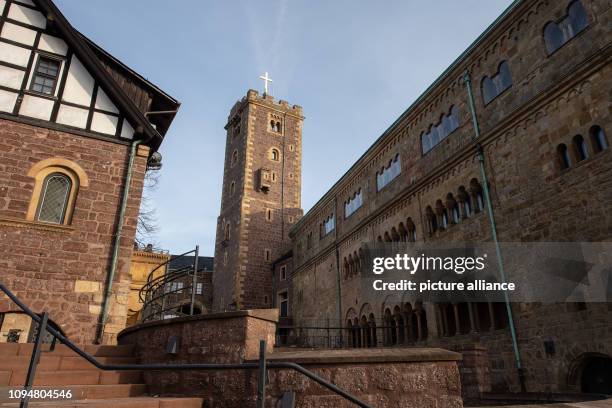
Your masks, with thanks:
[{"label": "dark overhanging roof edge of the half-timbered house at left", "polygon": [[[79,58],[81,63],[96,77],[104,88],[107,95],[117,105],[118,108],[126,115],[127,119],[134,125],[135,137],[144,140],[151,150],[155,151],[163,141],[163,134],[156,130],[145,114],[136,106],[136,104],[127,96],[121,86],[115,81],[110,73],[104,68],[100,58],[94,52],[94,48],[98,53],[101,53],[101,48],[95,46],[91,41],[88,41],[83,35],[72,27],[66,17],[57,8],[51,0],[34,0],[36,5],[46,15],[47,20],[52,23],[57,31],[62,35],[64,41],[73,50],[74,54]],[[103,51],[103,50],[102,50]],[[120,67],[127,68],[119,60],[110,56],[105,51],[103,55],[107,55],[111,61],[118,64]],[[132,74],[135,79],[144,80],[140,75],[127,68],[126,72]],[[146,81],[146,80],[145,80]],[[147,81],[148,82],[148,81]],[[152,85],[152,84],[151,84]],[[176,102],[176,101],[175,101]],[[176,102],[178,109],[178,102]]]}]

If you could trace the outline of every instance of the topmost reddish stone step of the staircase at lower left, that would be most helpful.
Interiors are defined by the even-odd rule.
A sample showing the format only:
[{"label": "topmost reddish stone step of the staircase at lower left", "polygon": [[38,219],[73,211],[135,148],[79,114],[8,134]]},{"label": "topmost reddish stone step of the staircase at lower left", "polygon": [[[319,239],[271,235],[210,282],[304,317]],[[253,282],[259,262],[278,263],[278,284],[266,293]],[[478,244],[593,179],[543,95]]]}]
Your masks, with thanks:
[{"label": "topmost reddish stone step of the staircase at lower left", "polygon": [[[64,344],[57,344],[53,351],[49,351],[50,344],[43,344],[42,350],[44,354],[54,356],[78,356],[74,351]],[[79,345],[81,350],[95,357],[133,357],[133,345],[121,346],[106,346],[106,345]],[[32,354],[34,345],[32,343],[0,343],[0,357],[4,356],[21,356]]]}]

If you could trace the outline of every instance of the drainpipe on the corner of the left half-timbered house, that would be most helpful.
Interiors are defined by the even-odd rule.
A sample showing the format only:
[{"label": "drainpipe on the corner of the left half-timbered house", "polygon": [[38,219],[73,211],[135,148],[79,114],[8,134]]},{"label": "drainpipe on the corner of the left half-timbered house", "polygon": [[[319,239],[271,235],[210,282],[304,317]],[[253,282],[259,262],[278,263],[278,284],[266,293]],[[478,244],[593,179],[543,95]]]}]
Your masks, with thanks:
[{"label": "drainpipe on the corner of the left half-timbered house", "polygon": [[142,143],[142,140],[135,140],[130,148],[130,158],[128,161],[127,174],[125,176],[125,184],[123,185],[123,196],[121,197],[121,207],[119,207],[119,218],[117,220],[117,229],[115,231],[115,240],[113,242],[113,254],[111,257],[111,263],[106,276],[106,286],[104,288],[104,298],[102,300],[102,311],[100,312],[100,321],[98,324],[98,333],[96,336],[96,344],[102,343],[102,337],[104,336],[104,328],[106,326],[106,320],[108,319],[108,312],[110,308],[110,297],[112,294],[113,282],[115,280],[115,273],[117,272],[117,260],[119,258],[119,249],[121,247],[121,235],[123,233],[123,222],[125,219],[125,209],[127,207],[127,201],[130,194],[130,184],[132,182],[132,173],[134,167],[134,158],[136,157],[136,151],[138,146]]}]

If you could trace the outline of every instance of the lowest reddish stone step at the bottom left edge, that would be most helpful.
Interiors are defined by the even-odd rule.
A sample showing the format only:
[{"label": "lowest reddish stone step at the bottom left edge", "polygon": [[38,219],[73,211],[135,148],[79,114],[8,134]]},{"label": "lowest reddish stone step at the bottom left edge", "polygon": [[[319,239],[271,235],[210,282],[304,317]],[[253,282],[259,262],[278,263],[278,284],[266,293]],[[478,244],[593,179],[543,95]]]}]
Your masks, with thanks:
[{"label": "lowest reddish stone step at the bottom left edge", "polygon": [[[18,407],[19,402],[2,403],[0,407]],[[45,401],[30,402],[30,407],[62,407],[62,408],[202,408],[201,398],[154,398],[154,397],[132,397],[132,398],[110,398],[103,400],[68,400],[68,401]]]}]

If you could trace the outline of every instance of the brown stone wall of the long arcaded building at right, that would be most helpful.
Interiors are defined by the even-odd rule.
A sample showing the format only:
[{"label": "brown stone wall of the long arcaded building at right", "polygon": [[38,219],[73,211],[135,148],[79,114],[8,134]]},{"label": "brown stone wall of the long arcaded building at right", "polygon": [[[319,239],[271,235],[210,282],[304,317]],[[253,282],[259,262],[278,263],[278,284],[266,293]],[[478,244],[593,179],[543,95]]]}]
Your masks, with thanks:
[{"label": "brown stone wall of the long arcaded building at right", "polygon": [[[463,75],[471,74],[481,143],[491,189],[499,239],[502,242],[610,241],[612,216],[612,77],[610,66],[612,6],[605,0],[581,0],[588,15],[586,29],[552,54],[546,52],[543,27],[559,21],[570,1],[521,2],[450,70],[410,111],[387,131],[342,180],[315,204],[292,229],[292,317],[294,324],[314,319],[345,321],[348,316],[381,319],[385,310],[402,307],[406,299],[389,295],[369,302],[361,296],[359,273],[346,272],[343,260],[364,242],[396,240],[400,224],[410,219],[417,241],[490,241],[486,211],[473,211],[459,223],[431,232],[428,206],[444,208],[461,187],[483,183],[471,143],[474,127],[467,105]],[[512,86],[488,104],[481,80],[506,61]],[[450,106],[459,108],[459,127],[426,154],[420,136]],[[589,132],[601,127],[608,148],[596,152]],[[587,141],[588,158],[577,160],[574,136]],[[562,169],[557,148],[565,144],[571,166]],[[380,191],[376,174],[397,153],[401,174]],[[361,188],[363,205],[344,217],[343,203]],[[337,202],[337,208],[334,203]],[[472,208],[474,208],[472,201]],[[334,234],[319,239],[320,222],[336,216]],[[436,214],[440,217],[440,213]],[[440,220],[440,218],[438,218]],[[438,223],[440,225],[440,223]],[[314,242],[306,245],[314,231]],[[335,248],[338,248],[338,259]],[[340,288],[337,270],[340,269]],[[340,290],[341,298],[337,293]],[[317,302],[309,299],[316,298]],[[340,314],[337,312],[342,303]],[[414,306],[414,303],[413,303]],[[578,391],[576,372],[589,354],[612,356],[612,309],[607,304],[512,306],[528,391]],[[453,337],[443,336],[434,305],[423,305],[428,326],[420,345],[444,348],[480,343],[488,351],[495,390],[518,390],[508,329]],[[380,340],[380,339],[379,339]],[[552,340],[556,353],[547,355],[543,343]]]}]

